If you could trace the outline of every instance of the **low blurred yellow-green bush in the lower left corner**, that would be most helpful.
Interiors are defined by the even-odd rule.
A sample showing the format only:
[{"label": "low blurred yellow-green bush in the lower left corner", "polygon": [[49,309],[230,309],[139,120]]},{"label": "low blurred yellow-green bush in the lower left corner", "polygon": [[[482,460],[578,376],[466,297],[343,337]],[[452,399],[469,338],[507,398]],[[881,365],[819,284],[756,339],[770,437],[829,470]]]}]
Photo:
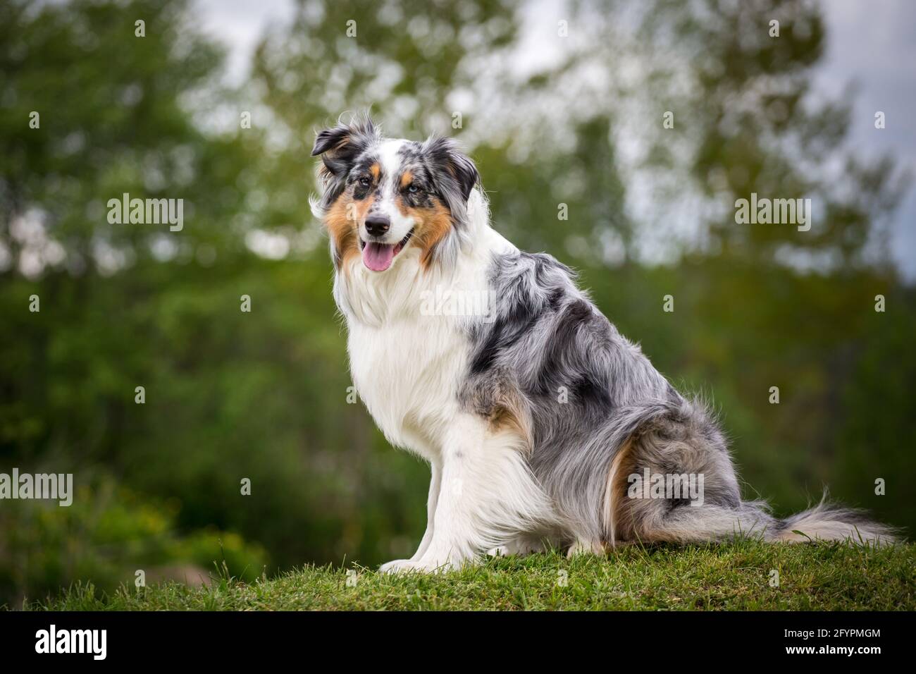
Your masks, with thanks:
[{"label": "low blurred yellow-green bush in the lower left corner", "polygon": [[180,534],[179,502],[151,503],[100,479],[82,485],[71,506],[41,501],[5,503],[0,531],[0,592],[10,607],[26,597],[92,579],[102,591],[134,587],[136,570],[154,579],[208,578],[214,564],[252,581],[264,570],[262,547],[215,528]]}]

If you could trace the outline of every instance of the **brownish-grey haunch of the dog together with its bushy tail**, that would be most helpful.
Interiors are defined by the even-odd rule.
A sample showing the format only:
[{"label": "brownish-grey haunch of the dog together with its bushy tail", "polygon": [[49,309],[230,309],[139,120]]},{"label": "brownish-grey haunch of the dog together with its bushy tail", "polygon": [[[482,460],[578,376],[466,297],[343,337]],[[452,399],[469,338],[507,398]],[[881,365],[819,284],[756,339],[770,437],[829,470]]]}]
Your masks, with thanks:
[{"label": "brownish-grey haunch of the dog together with its bushy tail", "polygon": [[[616,424],[617,436],[627,439],[619,443],[607,472],[605,545],[636,540],[702,543],[735,536],[772,542],[848,540],[881,545],[900,537],[894,527],[878,524],[864,511],[828,503],[826,491],[821,503],[786,519],[770,514],[764,501],[742,500],[725,438],[701,402],[671,401],[637,413],[626,417],[634,420],[631,423]],[[641,481],[636,480],[642,475]],[[651,480],[660,475],[666,481],[682,478],[681,497],[672,498],[676,496],[673,481],[667,498],[647,494],[645,488],[640,492],[638,484],[649,481],[650,475],[655,476]],[[696,476],[696,493],[691,487],[690,498],[684,498],[684,479],[690,483],[692,476]],[[634,480],[636,484],[630,487]]]}]

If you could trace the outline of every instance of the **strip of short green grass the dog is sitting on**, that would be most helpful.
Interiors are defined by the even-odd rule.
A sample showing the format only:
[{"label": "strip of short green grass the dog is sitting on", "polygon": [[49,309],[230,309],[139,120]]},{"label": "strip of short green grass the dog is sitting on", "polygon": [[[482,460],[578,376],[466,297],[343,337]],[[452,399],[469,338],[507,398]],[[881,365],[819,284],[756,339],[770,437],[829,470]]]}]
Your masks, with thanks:
[{"label": "strip of short green grass the dog is sitting on", "polygon": [[[279,610],[914,610],[916,546],[771,545],[625,547],[607,558],[560,554],[491,558],[438,575],[381,575],[306,567],[253,584],[214,577],[97,596],[77,585],[32,609]],[[770,585],[771,571],[779,586]],[[352,571],[351,571],[352,576]],[[351,580],[352,582],[352,580]]]}]

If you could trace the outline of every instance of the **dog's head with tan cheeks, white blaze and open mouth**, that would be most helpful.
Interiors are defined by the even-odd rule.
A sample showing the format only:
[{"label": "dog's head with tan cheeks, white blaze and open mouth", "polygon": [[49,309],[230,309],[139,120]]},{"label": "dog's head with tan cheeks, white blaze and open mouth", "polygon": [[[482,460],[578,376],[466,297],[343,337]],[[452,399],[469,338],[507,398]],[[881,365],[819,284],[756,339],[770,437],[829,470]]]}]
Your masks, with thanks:
[{"label": "dog's head with tan cheeks, white blaze and open mouth", "polygon": [[387,271],[412,246],[427,268],[467,226],[480,176],[451,138],[383,138],[365,116],[321,131],[311,154],[322,157],[322,197],[312,209],[328,227],[338,269],[359,256],[367,269]]}]

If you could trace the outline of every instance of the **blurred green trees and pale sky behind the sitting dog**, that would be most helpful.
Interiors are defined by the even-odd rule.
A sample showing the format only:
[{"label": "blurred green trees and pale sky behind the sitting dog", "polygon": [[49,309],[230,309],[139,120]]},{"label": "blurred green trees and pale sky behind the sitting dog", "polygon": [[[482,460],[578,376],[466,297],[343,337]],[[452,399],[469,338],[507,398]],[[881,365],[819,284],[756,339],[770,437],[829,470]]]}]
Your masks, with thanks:
[{"label": "blurred green trees and pale sky behind the sitting dog", "polygon": [[[412,553],[428,470],[347,401],[308,206],[314,132],[369,106],[390,136],[460,138],[495,227],[582,271],[714,399],[747,496],[784,515],[829,485],[912,530],[914,18],[906,0],[0,1],[0,472],[76,491],[0,501],[0,605],[136,569],[254,580]],[[811,198],[811,230],[736,225],[752,192]],[[183,229],[110,225],[122,193],[184,199]]]}]

